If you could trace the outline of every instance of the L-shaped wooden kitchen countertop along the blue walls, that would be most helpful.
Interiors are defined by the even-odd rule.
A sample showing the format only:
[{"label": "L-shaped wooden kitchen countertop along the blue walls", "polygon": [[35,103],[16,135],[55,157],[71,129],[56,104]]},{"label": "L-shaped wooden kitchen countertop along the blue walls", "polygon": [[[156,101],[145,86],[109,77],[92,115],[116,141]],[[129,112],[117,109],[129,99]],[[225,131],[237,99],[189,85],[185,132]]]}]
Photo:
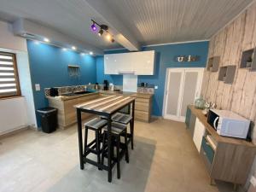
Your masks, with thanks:
[{"label": "L-shaped wooden kitchen countertop along the blue walls", "polygon": [[67,101],[67,100],[72,100],[72,99],[76,99],[76,98],[84,97],[84,96],[99,95],[101,93],[106,94],[106,95],[133,96],[133,97],[144,98],[144,99],[150,99],[152,96],[154,96],[154,94],[151,94],[151,93],[134,93],[134,92],[125,92],[125,91],[98,90],[96,92],[81,94],[81,95],[77,95],[77,96],[46,96],[46,98],[60,100],[60,101]]}]

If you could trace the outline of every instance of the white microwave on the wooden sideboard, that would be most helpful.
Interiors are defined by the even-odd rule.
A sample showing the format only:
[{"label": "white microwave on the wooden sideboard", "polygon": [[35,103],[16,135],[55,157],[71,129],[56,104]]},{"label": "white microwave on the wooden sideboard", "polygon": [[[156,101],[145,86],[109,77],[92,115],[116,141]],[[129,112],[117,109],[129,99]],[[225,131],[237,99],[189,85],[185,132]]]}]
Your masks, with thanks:
[{"label": "white microwave on the wooden sideboard", "polygon": [[207,117],[208,124],[225,137],[247,138],[250,121],[227,110],[210,109]]}]

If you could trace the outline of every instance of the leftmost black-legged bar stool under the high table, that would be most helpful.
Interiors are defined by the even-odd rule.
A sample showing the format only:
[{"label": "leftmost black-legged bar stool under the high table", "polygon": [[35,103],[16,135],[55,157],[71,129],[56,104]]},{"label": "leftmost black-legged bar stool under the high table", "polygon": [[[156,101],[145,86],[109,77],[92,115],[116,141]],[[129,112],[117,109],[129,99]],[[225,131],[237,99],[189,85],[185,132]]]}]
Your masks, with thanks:
[{"label": "leftmost black-legged bar stool under the high table", "polygon": [[[108,121],[106,119],[94,118],[90,121],[84,123],[84,160],[94,166],[98,166],[100,170],[101,165],[101,140],[102,140],[102,127],[107,125]],[[95,131],[95,139],[90,143],[87,143],[88,140],[88,130]],[[87,155],[93,153],[97,156],[97,161],[90,160],[87,158]]]}]

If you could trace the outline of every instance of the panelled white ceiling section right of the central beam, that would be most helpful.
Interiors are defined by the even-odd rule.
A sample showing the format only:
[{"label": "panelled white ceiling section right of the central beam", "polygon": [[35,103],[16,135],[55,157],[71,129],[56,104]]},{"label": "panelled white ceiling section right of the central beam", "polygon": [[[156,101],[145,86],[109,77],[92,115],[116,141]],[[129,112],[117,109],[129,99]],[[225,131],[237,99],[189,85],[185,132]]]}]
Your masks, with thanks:
[{"label": "panelled white ceiling section right of the central beam", "polygon": [[253,0],[105,0],[141,44],[209,39]]}]

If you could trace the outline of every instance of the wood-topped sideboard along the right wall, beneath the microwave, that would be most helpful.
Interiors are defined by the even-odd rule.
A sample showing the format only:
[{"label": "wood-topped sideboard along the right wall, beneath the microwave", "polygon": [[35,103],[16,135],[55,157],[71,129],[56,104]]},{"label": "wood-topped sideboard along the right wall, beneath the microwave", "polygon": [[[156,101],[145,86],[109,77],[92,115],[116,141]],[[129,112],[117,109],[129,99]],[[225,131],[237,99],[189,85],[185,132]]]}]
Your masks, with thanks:
[{"label": "wood-topped sideboard along the right wall, beneath the microwave", "polygon": [[[205,132],[200,135],[195,123],[194,137],[198,143],[201,143],[199,149],[202,160],[204,161],[211,180],[221,180],[237,184],[245,184],[248,173],[253,165],[253,159],[256,154],[256,147],[253,143],[242,139],[232,137],[222,137],[207,123],[207,117],[201,113],[200,109],[189,106],[190,113],[195,115],[196,121],[200,121],[200,127],[203,126]],[[191,119],[192,115],[188,115]],[[187,119],[186,122],[189,122]],[[197,135],[195,135],[197,134]],[[194,140],[195,141],[195,140]]]}]

